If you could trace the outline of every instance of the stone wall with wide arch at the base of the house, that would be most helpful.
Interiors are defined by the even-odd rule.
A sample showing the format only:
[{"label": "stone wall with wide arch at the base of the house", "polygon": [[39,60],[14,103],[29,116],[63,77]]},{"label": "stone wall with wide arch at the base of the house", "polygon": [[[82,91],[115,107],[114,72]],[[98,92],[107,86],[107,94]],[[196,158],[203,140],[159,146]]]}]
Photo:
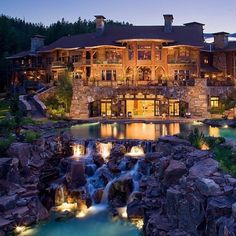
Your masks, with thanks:
[{"label": "stone wall with wide arch at the base of the house", "polygon": [[136,87],[96,87],[83,86],[82,81],[73,81],[73,98],[71,118],[88,118],[89,103],[105,98],[116,98],[117,95],[156,94],[167,98],[179,99],[189,104],[189,112],[197,117],[208,117],[209,96],[227,96],[234,87],[208,87],[205,79],[195,79],[195,86],[136,86]]}]

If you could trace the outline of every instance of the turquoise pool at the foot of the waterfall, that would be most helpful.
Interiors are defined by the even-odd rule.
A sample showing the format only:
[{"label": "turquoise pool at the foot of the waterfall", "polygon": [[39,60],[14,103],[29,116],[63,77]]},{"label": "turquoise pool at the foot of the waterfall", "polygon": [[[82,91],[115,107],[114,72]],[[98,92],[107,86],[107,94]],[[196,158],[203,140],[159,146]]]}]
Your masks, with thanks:
[{"label": "turquoise pool at the foot of the waterfall", "polygon": [[20,236],[138,236],[139,230],[125,220],[112,220],[107,210],[84,218],[66,221],[51,220],[25,230]]}]

